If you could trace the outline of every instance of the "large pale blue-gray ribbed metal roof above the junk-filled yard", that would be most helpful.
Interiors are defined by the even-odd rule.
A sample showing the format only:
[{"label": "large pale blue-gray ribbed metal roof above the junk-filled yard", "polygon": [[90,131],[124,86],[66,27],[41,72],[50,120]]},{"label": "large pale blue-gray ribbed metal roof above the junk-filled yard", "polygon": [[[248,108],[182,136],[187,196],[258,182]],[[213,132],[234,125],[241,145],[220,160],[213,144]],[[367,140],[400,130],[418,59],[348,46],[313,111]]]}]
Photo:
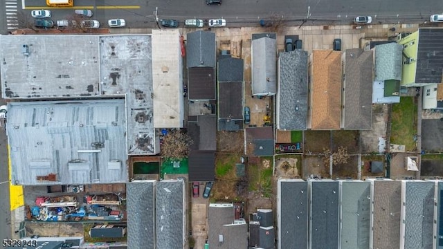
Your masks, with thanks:
[{"label": "large pale blue-gray ribbed metal roof above the junk-filled yard", "polygon": [[14,184],[127,181],[123,99],[11,102],[7,132]]}]

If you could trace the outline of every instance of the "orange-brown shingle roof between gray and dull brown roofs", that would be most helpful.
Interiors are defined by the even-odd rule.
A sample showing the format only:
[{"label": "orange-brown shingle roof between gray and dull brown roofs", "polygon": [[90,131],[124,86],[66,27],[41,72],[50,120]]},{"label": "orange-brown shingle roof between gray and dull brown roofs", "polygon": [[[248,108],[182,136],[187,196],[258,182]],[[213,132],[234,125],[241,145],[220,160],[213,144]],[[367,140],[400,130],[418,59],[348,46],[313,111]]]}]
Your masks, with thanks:
[{"label": "orange-brown shingle roof between gray and dull brown roofs", "polygon": [[341,52],[312,52],[311,91],[311,129],[340,129]]}]

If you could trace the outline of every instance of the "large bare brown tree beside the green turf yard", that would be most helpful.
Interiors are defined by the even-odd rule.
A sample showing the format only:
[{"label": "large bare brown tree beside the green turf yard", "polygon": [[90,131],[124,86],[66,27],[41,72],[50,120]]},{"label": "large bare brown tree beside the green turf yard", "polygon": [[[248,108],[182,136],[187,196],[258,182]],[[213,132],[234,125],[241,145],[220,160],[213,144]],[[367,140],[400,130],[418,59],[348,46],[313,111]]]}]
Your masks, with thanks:
[{"label": "large bare brown tree beside the green turf yard", "polygon": [[183,158],[189,155],[192,138],[180,130],[170,131],[163,138],[161,155],[165,158]]}]

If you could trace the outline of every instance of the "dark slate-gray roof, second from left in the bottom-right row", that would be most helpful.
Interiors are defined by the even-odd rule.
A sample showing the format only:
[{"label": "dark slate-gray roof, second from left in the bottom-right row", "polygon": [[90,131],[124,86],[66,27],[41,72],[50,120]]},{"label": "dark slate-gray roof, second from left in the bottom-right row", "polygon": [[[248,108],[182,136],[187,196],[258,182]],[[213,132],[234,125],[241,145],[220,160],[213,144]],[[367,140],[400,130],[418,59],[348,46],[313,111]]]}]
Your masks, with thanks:
[{"label": "dark slate-gray roof, second from left in the bottom-right row", "polygon": [[309,179],[312,249],[338,249],[338,181]]}]

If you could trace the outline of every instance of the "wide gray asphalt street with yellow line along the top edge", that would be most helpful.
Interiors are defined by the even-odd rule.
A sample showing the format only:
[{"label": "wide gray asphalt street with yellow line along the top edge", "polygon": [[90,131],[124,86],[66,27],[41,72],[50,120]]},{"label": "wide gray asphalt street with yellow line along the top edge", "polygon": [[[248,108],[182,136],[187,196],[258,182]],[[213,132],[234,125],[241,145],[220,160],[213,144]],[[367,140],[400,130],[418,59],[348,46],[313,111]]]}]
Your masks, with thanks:
[{"label": "wide gray asphalt street with yellow line along the top edge", "polygon": [[[6,0],[15,1],[15,0]],[[31,8],[46,8],[45,0],[23,0],[28,14]],[[224,17],[228,26],[258,26],[259,20],[283,19],[288,25],[350,24],[357,15],[370,15],[377,24],[423,23],[429,16],[443,11],[441,0],[223,0],[221,6],[206,6],[205,0],[73,0],[75,8],[86,6],[94,12],[102,26],[108,19],[124,18],[129,28],[155,27],[154,11],[159,19],[177,19],[183,25],[188,18]],[[21,10],[21,1],[17,1]],[[118,6],[118,8],[115,8]],[[5,2],[0,1],[5,12]],[[64,19],[73,9],[55,8],[52,19]],[[4,15],[0,20],[6,31]]]}]

